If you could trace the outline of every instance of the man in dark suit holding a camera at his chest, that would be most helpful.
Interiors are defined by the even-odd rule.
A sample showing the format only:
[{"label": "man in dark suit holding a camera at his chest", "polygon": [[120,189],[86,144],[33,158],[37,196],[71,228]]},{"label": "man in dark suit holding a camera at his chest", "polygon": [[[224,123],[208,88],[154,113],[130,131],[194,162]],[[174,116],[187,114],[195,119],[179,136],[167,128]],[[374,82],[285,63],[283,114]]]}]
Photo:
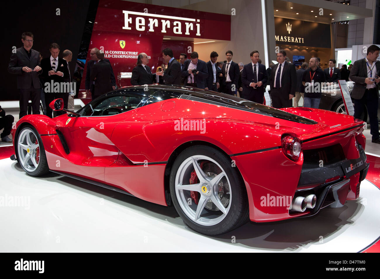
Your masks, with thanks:
[{"label": "man in dark suit holding a camera at his chest", "polygon": [[185,61],[182,67],[182,76],[187,77],[184,85],[204,89],[206,87],[206,78],[209,76],[206,62],[198,59],[198,53],[193,51],[190,54],[191,60]]}]

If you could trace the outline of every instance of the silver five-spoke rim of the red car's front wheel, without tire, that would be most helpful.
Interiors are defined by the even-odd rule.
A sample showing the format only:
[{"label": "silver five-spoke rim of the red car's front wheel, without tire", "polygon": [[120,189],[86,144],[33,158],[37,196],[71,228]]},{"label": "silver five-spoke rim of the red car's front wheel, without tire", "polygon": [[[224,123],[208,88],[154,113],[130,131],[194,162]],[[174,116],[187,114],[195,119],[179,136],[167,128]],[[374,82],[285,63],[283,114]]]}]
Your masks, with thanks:
[{"label": "silver five-spoke rim of the red car's front wheel, without tire", "polygon": [[28,172],[34,172],[40,163],[40,144],[31,129],[24,129],[17,138],[17,153],[20,164]]}]

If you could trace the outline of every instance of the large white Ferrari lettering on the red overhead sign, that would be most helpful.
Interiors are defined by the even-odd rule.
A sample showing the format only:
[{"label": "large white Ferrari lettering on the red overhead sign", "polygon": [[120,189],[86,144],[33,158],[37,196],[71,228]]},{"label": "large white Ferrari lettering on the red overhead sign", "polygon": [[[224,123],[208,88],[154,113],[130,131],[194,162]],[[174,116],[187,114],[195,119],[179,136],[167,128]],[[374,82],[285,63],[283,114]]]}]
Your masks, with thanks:
[{"label": "large white Ferrari lettering on the red overhead sign", "polygon": [[171,30],[177,35],[201,36],[200,19],[123,11],[125,30],[149,31],[165,35]]}]

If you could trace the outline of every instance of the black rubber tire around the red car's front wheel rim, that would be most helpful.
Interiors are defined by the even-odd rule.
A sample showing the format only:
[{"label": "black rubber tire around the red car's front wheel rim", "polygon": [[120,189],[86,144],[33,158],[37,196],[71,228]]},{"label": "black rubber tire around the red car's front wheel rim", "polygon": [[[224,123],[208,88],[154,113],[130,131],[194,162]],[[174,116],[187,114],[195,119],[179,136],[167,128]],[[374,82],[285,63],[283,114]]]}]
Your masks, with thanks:
[{"label": "black rubber tire around the red car's front wheel rim", "polygon": [[[34,134],[36,136],[36,140],[38,141],[38,144],[39,144],[40,160],[38,162],[37,168],[33,172],[30,172],[27,169],[25,169],[25,167],[22,165],[22,163],[20,162],[20,159],[19,159],[18,140],[19,140],[19,136],[21,135],[22,131],[24,131],[25,129],[30,129],[30,130],[32,130],[34,132]],[[49,172],[49,166],[47,165],[45,148],[43,146],[43,143],[42,143],[40,135],[38,134],[38,132],[36,131],[36,129],[32,125],[25,125],[25,126],[23,126],[20,129],[20,131],[17,132],[17,137],[14,140],[14,145],[15,145],[14,150],[15,150],[15,153],[16,153],[17,162],[19,162],[19,164],[22,167],[22,169],[28,175],[30,175],[32,177],[39,177],[39,176],[45,175],[46,173]]]}]

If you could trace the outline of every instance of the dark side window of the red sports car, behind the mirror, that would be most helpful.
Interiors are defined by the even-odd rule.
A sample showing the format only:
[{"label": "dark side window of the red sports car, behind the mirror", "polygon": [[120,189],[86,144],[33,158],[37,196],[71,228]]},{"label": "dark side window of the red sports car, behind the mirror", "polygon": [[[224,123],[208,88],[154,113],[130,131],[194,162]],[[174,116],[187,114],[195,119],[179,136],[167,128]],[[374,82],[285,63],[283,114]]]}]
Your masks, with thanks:
[{"label": "dark side window of the red sports car, behind the mirror", "polygon": [[82,116],[103,116],[115,115],[135,109],[142,101],[140,96],[132,95],[111,95],[90,102],[83,110]]}]

